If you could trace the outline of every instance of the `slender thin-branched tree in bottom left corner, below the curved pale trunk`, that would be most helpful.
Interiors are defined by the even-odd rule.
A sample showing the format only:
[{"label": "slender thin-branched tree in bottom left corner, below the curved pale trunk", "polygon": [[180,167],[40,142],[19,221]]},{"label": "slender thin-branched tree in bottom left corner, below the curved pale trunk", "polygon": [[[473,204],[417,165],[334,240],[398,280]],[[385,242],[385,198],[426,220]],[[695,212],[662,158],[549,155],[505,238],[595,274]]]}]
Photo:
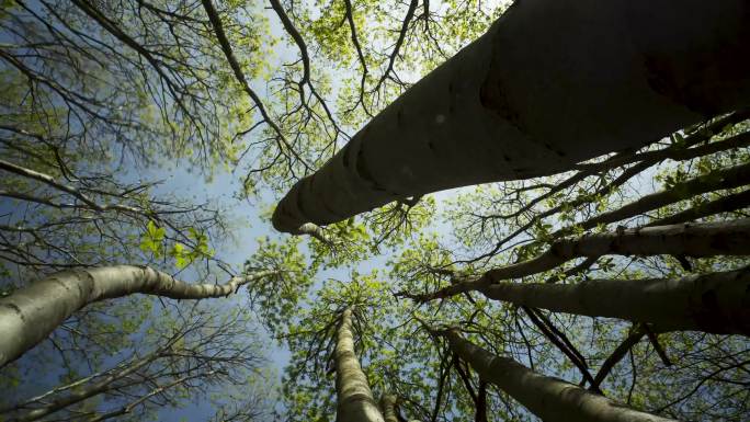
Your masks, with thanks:
[{"label": "slender thin-branched tree in bottom left corner, below the curved pale trunk", "polygon": [[[147,411],[174,407],[180,396],[208,395],[227,380],[240,384],[258,376],[262,365],[255,339],[243,335],[248,316],[235,312],[217,317],[215,309],[192,307],[184,315],[162,316],[168,323],[154,323],[154,333],[132,355],[103,370],[23,398],[0,410],[3,420],[35,421],[54,414],[55,420],[109,420],[126,414],[144,417]],[[220,391],[220,389],[218,389]],[[260,389],[242,391],[246,411],[254,420],[263,411]],[[92,400],[99,403],[87,407]],[[228,413],[225,400],[215,400],[217,413]]]}]

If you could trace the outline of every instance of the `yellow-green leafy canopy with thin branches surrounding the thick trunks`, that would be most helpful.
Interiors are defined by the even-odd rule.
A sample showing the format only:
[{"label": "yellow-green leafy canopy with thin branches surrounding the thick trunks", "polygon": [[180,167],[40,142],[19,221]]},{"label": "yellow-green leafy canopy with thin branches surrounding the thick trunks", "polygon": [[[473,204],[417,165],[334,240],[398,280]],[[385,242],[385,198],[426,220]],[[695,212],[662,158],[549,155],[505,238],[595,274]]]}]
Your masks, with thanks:
[{"label": "yellow-green leafy canopy with thin branches surrounding the thick trunks", "polygon": [[[88,307],[2,369],[1,387],[11,391],[2,404],[56,383],[101,379],[96,374],[122,368],[111,356],[126,363],[188,330],[137,381],[56,417],[118,409],[179,379],[166,374],[173,370],[201,378],[147,397],[126,418],[159,420],[155,407],[201,400],[216,407],[217,421],[254,420],[274,404],[286,420],[332,421],[331,352],[349,307],[371,388],[376,397],[396,395],[398,411],[409,418],[478,419],[486,387],[488,420],[535,420],[503,391],[482,387],[424,323],[457,328],[497,355],[591,386],[587,376],[641,327],[524,309],[476,290],[424,304],[404,294],[462,285],[529,261],[567,236],[664,219],[747,217],[750,202],[742,195],[750,181],[729,185],[723,178],[726,169],[750,163],[747,113],[717,116],[554,176],[404,198],[312,228],[308,237],[263,236],[236,267],[225,262],[234,240],[225,207],[191,199],[192,192],[183,192],[190,189],[164,192],[160,180],[177,167],[195,181],[234,176],[237,199],[261,208],[507,8],[453,0],[3,3],[0,296],[39,274],[122,262],[196,280],[270,275],[248,285],[248,304],[245,296],[205,308],[126,297]],[[660,192],[670,199],[626,208]],[[620,214],[602,217],[613,213]],[[253,248],[249,243],[242,239]],[[509,282],[677,277],[747,264],[726,256],[594,256]],[[251,334],[257,321],[250,311],[276,347],[291,353],[279,397],[269,400],[255,396],[268,392],[274,374],[260,370],[259,361],[243,361],[259,356],[257,344],[266,341]],[[660,333],[638,339],[596,387],[664,415],[741,421],[750,412],[749,360],[746,338]],[[44,374],[46,385],[31,385]],[[279,403],[269,402],[274,399]]]}]

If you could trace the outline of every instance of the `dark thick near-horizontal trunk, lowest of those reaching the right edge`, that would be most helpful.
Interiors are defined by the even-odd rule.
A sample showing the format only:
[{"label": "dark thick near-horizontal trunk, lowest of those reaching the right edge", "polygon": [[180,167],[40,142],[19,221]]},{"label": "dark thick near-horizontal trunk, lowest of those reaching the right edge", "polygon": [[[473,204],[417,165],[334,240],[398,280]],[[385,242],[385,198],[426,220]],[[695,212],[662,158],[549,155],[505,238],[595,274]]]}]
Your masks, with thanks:
[{"label": "dark thick near-horizontal trunk, lowest of those reaching the right edge", "polygon": [[658,331],[750,335],[750,269],[682,278],[501,283],[487,297],[553,312],[652,323]]}]

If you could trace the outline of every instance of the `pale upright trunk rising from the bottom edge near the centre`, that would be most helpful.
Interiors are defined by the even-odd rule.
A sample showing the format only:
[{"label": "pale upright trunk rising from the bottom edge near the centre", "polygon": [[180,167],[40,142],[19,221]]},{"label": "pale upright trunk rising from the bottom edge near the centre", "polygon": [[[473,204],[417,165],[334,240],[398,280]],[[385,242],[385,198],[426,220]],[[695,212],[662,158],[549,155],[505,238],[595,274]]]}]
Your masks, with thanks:
[{"label": "pale upright trunk rising from the bottom edge near the centre", "polygon": [[346,308],[341,315],[333,358],[338,397],[337,422],[384,422],[370,390],[367,377],[354,353],[351,308]]}]

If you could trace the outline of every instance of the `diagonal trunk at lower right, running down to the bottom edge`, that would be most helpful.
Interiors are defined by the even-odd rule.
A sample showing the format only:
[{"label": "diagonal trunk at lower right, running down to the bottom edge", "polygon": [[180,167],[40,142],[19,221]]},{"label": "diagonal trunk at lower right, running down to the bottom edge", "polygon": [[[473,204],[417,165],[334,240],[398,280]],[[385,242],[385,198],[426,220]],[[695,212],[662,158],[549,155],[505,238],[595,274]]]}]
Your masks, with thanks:
[{"label": "diagonal trunk at lower right, running down to the bottom edge", "polygon": [[539,375],[463,339],[456,330],[438,332],[481,379],[495,384],[546,422],[666,422],[671,419],[629,409],[561,379]]}]

